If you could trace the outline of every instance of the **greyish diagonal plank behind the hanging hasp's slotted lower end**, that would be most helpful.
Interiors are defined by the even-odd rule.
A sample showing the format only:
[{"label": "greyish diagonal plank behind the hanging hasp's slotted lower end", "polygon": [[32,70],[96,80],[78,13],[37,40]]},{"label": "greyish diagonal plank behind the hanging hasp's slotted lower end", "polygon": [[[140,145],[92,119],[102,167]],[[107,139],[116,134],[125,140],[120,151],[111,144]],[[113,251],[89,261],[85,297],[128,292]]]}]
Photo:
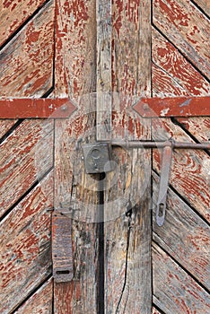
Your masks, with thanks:
[{"label": "greyish diagonal plank behind the hanging hasp's slotted lower end", "polygon": [[159,179],[153,173],[153,240],[209,289],[209,226],[169,189],[165,222],[162,228],[158,227],[155,222],[158,191]]}]

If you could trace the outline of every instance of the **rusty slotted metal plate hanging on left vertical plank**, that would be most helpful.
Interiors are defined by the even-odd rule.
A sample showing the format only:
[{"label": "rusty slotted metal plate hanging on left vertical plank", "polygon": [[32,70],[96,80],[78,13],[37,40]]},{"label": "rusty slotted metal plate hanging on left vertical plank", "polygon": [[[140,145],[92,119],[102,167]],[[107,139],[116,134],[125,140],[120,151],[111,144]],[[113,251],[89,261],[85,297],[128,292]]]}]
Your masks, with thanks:
[{"label": "rusty slotted metal plate hanging on left vertical plank", "polygon": [[57,210],[52,214],[52,260],[56,283],[69,282],[74,277],[71,219]]}]

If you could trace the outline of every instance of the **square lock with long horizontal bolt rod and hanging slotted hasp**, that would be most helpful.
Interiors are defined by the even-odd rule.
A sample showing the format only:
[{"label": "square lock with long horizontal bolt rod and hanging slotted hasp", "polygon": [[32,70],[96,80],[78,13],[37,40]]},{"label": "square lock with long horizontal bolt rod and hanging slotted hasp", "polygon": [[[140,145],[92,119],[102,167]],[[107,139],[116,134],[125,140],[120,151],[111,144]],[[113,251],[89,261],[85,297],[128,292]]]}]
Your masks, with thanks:
[{"label": "square lock with long horizontal bolt rod and hanging slotted hasp", "polygon": [[113,170],[109,159],[109,147],[121,146],[126,149],[134,148],[161,148],[162,149],[162,167],[159,196],[156,204],[156,222],[162,226],[166,212],[166,198],[170,182],[171,161],[173,149],[203,149],[210,150],[210,143],[188,143],[176,142],[172,138],[165,142],[152,141],[127,141],[110,140],[94,144],[83,145],[83,156],[85,170],[87,173],[101,173]]}]

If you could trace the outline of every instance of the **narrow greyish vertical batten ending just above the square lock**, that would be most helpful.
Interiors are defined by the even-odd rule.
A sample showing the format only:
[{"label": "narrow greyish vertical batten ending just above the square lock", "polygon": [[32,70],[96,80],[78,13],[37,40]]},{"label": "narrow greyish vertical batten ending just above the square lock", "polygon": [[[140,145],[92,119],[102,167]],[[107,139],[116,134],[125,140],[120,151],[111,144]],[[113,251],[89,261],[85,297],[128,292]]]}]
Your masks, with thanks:
[{"label": "narrow greyish vertical batten ending just above the square lock", "polygon": [[111,0],[96,1],[97,20],[97,139],[108,140],[111,131]]}]

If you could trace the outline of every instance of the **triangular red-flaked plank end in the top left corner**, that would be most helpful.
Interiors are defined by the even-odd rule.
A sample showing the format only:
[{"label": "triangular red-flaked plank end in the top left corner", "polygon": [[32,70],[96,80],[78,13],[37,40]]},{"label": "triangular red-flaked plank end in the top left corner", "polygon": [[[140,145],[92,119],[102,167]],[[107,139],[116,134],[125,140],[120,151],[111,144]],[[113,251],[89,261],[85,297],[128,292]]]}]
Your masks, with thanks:
[{"label": "triangular red-flaked plank end in the top left corner", "polygon": [[0,46],[34,13],[44,0],[6,1],[0,3]]}]

